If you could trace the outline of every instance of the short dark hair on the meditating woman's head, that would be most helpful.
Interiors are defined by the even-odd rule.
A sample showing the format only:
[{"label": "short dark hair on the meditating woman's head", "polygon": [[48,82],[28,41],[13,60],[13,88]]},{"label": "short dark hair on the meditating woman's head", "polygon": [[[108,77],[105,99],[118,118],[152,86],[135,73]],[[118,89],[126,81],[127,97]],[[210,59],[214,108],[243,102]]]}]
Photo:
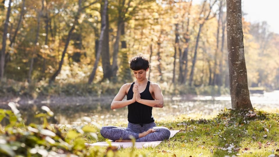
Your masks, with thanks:
[{"label": "short dark hair on the meditating woman's head", "polygon": [[149,68],[149,61],[147,58],[142,55],[136,56],[130,60],[130,68],[132,70],[141,70],[144,69],[146,71]]}]

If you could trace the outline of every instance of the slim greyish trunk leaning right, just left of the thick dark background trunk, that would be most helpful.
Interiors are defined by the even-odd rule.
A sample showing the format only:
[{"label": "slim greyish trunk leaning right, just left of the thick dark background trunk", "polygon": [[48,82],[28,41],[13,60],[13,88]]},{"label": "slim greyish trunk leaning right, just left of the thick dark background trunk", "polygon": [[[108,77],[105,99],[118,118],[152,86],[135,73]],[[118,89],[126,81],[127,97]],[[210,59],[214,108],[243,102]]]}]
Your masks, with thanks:
[{"label": "slim greyish trunk leaning right, just left of the thick dark background trunk", "polygon": [[99,49],[98,49],[98,52],[97,52],[97,57],[96,57],[96,60],[95,60],[95,63],[94,63],[94,67],[93,67],[93,70],[92,70],[92,73],[88,79],[88,84],[91,84],[94,77],[95,77],[95,74],[96,74],[96,70],[97,70],[97,67],[98,67],[98,63],[99,63],[99,59],[100,59],[100,54],[101,54],[101,51],[102,51],[102,44],[103,44],[103,40],[104,40],[104,32],[105,32],[105,28],[107,27],[107,24],[106,24],[106,14],[107,14],[107,9],[108,9],[108,0],[105,0],[105,4],[104,4],[104,8],[103,8],[103,14],[102,14],[102,17],[101,17],[101,34],[100,34],[100,40],[99,40]]}]

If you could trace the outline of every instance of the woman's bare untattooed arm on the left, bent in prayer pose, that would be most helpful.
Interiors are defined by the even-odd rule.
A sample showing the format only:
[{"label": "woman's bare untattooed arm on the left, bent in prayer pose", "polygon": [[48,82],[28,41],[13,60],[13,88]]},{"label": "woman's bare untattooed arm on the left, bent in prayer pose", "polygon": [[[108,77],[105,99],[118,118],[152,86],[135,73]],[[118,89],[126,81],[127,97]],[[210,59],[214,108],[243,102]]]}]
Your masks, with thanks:
[{"label": "woman's bare untattooed arm on the left, bent in prayer pose", "polygon": [[128,84],[128,83],[122,85],[119,92],[116,94],[116,96],[112,100],[112,103],[110,105],[111,109],[122,108],[122,107],[128,106],[135,102],[135,97],[133,97],[133,99],[130,99],[130,100],[122,101],[123,98],[125,97],[126,91],[129,87],[130,87],[130,84]]}]

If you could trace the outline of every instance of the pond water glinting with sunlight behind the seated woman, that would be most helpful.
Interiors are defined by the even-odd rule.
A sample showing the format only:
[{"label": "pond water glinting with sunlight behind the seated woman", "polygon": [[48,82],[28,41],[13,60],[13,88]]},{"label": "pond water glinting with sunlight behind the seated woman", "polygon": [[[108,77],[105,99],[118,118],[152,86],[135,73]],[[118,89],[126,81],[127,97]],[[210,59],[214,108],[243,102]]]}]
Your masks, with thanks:
[{"label": "pond water glinting with sunlight behind the seated woman", "polygon": [[[250,99],[254,108],[279,109],[279,91],[266,92],[264,94],[252,94]],[[36,102],[29,105],[19,104],[19,111],[26,124],[41,124],[39,118],[34,118],[37,113],[43,112],[40,108],[48,106],[54,113],[49,119],[52,124],[70,124],[79,125],[84,120],[83,117],[89,117],[92,122],[100,125],[115,124],[118,122],[128,122],[128,109],[110,109],[110,103],[113,97],[105,98],[101,101],[82,101],[52,104],[51,102]],[[192,97],[165,97],[163,108],[153,108],[153,117],[155,120],[176,117],[180,114],[210,115],[217,114],[224,108],[231,108],[230,96],[192,96]],[[203,118],[201,116],[201,118]],[[2,125],[6,122],[3,121]]]}]

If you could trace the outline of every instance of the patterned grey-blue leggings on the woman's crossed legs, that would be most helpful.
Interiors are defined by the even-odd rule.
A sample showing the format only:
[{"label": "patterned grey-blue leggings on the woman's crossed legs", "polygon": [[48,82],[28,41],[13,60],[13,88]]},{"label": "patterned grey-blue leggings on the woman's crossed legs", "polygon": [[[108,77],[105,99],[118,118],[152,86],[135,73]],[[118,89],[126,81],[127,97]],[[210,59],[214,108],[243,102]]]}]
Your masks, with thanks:
[{"label": "patterned grey-blue leggings on the woman's crossed legs", "polygon": [[[148,129],[154,129],[155,132],[139,138],[139,133],[147,131]],[[119,126],[103,126],[101,129],[101,135],[104,138],[108,138],[113,141],[120,139],[130,140],[130,135],[132,135],[136,139],[136,142],[150,142],[168,139],[171,133],[168,128],[156,126],[154,122],[143,124],[143,126],[129,122],[127,128]]]}]

